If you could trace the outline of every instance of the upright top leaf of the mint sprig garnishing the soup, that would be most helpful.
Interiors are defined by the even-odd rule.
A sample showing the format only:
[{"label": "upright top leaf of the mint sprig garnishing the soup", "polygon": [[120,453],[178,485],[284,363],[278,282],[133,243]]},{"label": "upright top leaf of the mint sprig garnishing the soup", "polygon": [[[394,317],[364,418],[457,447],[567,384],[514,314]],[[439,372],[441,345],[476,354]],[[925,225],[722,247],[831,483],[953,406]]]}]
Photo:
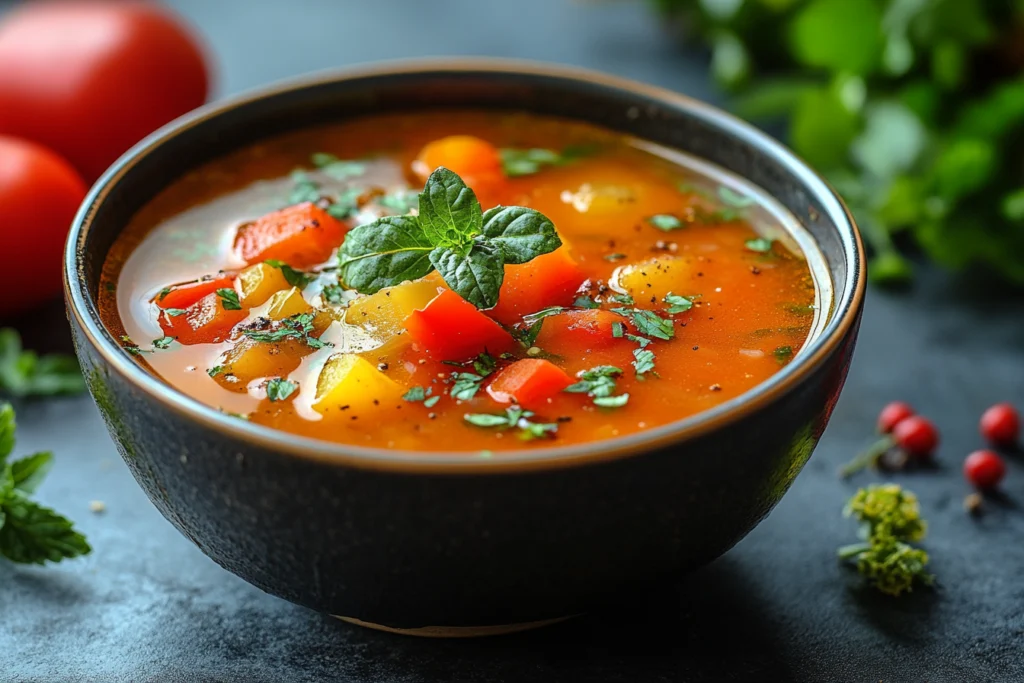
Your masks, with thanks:
[{"label": "upright top leaf of the mint sprig garnishing the soup", "polygon": [[441,167],[427,178],[419,200],[419,224],[429,244],[465,253],[483,227],[483,210],[473,190]]}]

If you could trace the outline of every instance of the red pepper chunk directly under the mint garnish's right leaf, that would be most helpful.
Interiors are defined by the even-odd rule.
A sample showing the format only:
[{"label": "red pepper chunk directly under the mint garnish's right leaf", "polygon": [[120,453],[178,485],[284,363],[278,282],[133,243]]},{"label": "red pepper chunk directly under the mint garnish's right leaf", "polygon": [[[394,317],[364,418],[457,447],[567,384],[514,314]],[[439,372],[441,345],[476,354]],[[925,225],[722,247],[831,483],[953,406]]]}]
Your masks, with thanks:
[{"label": "red pepper chunk directly under the mint garnish's right leaf", "polygon": [[567,306],[586,280],[564,247],[521,265],[507,265],[498,305],[487,314],[499,323],[514,325],[528,313]]}]

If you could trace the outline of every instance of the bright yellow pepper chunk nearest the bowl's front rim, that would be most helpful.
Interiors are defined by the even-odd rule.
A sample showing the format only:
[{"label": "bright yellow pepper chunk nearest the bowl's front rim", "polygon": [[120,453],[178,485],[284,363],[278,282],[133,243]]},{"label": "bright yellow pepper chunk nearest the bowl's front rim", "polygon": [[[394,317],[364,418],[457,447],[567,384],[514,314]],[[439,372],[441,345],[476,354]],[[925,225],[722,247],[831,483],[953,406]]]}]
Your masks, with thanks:
[{"label": "bright yellow pepper chunk nearest the bowl's front rim", "polygon": [[400,404],[401,385],[354,353],[330,358],[316,380],[313,410],[324,416],[354,416]]}]

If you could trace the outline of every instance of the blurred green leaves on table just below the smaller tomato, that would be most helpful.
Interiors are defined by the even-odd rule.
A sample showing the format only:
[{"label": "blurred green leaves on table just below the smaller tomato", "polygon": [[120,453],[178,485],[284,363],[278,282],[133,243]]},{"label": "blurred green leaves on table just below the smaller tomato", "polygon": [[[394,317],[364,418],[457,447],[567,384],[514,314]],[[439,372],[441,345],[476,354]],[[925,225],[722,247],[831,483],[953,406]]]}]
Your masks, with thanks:
[{"label": "blurred green leaves on table just below the smaller tomato", "polygon": [[15,330],[0,329],[0,395],[54,396],[84,390],[85,380],[74,357],[40,356],[22,348]]}]

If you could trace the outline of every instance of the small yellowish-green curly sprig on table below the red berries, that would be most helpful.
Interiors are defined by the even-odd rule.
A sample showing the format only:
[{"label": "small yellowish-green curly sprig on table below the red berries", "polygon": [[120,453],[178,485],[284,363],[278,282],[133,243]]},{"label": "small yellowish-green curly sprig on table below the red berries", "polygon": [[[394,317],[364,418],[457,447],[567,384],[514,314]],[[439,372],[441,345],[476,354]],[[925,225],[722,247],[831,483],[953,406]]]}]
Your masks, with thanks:
[{"label": "small yellowish-green curly sprig on table below the red berries", "polygon": [[928,553],[909,545],[928,529],[913,494],[894,483],[861,488],[844,514],[860,522],[863,542],[840,548],[839,557],[854,562],[868,583],[893,596],[934,583],[925,570]]}]

